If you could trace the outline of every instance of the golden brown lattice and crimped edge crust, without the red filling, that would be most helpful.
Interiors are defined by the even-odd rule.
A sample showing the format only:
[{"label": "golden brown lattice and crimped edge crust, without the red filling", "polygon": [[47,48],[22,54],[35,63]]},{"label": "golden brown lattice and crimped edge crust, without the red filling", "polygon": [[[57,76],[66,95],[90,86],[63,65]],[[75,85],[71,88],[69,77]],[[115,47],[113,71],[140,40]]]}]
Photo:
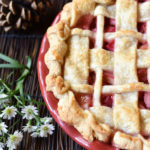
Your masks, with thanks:
[{"label": "golden brown lattice and crimped edge crust, without the red filling", "polygon": [[[150,147],[148,140],[137,136],[137,133],[150,132],[150,122],[146,118],[150,112],[139,111],[137,108],[137,91],[150,91],[150,86],[137,82],[135,66],[137,61],[138,68],[150,67],[149,50],[137,50],[136,54],[137,41],[145,40],[150,36],[137,32],[136,21],[150,19],[146,14],[150,10],[150,2],[146,2],[147,5],[140,4],[138,8],[134,0],[117,0],[117,6],[112,5],[114,3],[114,0],[73,0],[72,3],[64,6],[59,23],[47,30],[50,48],[45,55],[45,63],[49,69],[46,77],[46,89],[52,91],[59,99],[58,113],[61,120],[73,125],[85,139],[93,141],[97,138],[100,141],[108,142],[113,137],[113,144],[120,148],[146,150]],[[137,17],[135,8],[137,8],[140,18]],[[116,13],[117,16],[115,16]],[[124,13],[127,13],[126,16]],[[85,14],[92,14],[98,18],[100,25],[98,33],[101,34],[103,33],[104,17],[116,17],[117,32],[106,33],[101,37],[104,36],[107,40],[116,38],[115,49],[117,52],[115,54],[102,49],[103,39],[100,43],[100,38],[96,41],[97,47],[90,49],[88,37],[97,38],[96,34],[89,30],[72,29],[78,19]],[[72,39],[76,41],[74,44],[71,43]],[[85,45],[79,46],[78,43],[85,43]],[[79,52],[70,54],[70,49],[73,49],[73,52],[77,52],[79,49]],[[124,64],[132,65],[126,67]],[[69,69],[62,71],[62,68],[66,66]],[[92,85],[87,84],[89,69],[99,75],[96,82],[102,84],[102,70],[112,71],[114,68],[115,74],[118,76],[117,80],[115,79],[116,85],[102,88],[95,86],[94,89]],[[120,70],[123,68],[124,72],[120,76]],[[73,76],[70,77],[70,74]],[[96,88],[104,94],[110,92],[115,94],[114,110],[103,106],[83,110],[79,106],[72,91],[93,93]],[[99,101],[101,93],[95,92],[94,98]],[[102,114],[103,116],[101,116]],[[124,116],[128,117],[124,119]],[[112,118],[110,119],[110,117]],[[140,129],[140,117],[143,129]],[[107,121],[108,118],[110,121]],[[115,128],[125,133],[116,132]],[[127,134],[128,132],[130,135]]]}]

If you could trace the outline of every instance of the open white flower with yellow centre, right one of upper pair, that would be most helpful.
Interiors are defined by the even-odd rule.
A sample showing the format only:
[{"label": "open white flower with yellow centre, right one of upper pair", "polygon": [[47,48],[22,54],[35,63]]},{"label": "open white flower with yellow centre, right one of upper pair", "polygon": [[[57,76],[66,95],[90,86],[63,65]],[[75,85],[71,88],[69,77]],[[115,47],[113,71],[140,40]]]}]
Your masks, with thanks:
[{"label": "open white flower with yellow centre, right one of upper pair", "polygon": [[38,115],[37,108],[32,105],[25,106],[21,112],[24,114],[23,119],[26,118],[27,120],[31,120],[31,119],[35,118],[34,115]]}]

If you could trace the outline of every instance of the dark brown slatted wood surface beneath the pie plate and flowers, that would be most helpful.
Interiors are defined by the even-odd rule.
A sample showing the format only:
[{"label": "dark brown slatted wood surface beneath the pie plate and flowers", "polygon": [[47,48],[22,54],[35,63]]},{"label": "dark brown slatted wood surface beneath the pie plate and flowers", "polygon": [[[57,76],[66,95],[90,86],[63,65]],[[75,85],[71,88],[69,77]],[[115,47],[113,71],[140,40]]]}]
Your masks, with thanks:
[{"label": "dark brown slatted wood surface beneath the pie plate and flowers", "polygon": [[[62,6],[69,0],[52,0],[52,7],[50,22],[51,24],[54,16],[61,10]],[[38,53],[40,49],[41,40],[43,33],[46,31],[46,27],[40,30],[40,32],[29,31],[29,32],[14,32],[4,33],[0,30],[0,52],[4,53],[12,58],[19,60],[20,63],[25,63],[25,56],[30,56],[32,58],[32,70],[31,75],[28,77],[25,84],[25,92],[30,93],[33,98],[37,101],[43,101],[41,96],[36,64]],[[39,34],[40,33],[40,34]],[[0,77],[4,78],[8,74],[9,70],[1,69]],[[50,116],[46,106],[40,109],[42,116]],[[20,122],[17,124],[16,129],[20,130],[25,121],[21,118]],[[12,120],[12,122],[14,122]],[[12,123],[10,122],[10,123]],[[70,137],[68,137],[62,129],[54,121],[55,131],[54,134],[48,136],[48,138],[32,138],[29,134],[24,134],[24,138],[18,150],[84,150],[78,144],[76,144]],[[13,130],[12,130],[13,132]]]}]

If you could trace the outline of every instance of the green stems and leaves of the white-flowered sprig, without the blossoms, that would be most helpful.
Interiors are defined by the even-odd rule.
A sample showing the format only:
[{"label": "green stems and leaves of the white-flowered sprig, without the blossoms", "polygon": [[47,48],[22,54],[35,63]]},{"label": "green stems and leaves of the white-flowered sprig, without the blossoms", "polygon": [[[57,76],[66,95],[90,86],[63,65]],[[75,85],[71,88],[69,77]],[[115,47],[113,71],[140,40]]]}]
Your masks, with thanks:
[{"label": "green stems and leaves of the white-flowered sprig, without the blossoms", "polygon": [[[27,79],[28,75],[30,74],[30,69],[32,66],[32,60],[29,56],[27,58],[26,65],[20,64],[17,60],[14,60],[2,53],[0,53],[0,59],[3,60],[5,63],[0,64],[0,68],[10,68],[13,71],[8,74],[5,79],[0,78],[0,94],[5,93],[6,97],[0,98],[0,104],[2,104],[3,108],[7,108],[7,106],[15,106],[17,108],[16,113],[23,117],[24,114],[21,111],[25,108],[26,105],[36,105],[38,110],[40,110],[41,105],[45,105],[43,102],[38,102],[31,98],[29,94],[24,92],[24,84],[25,80]],[[20,76],[15,81],[12,81],[11,78],[15,76],[16,70],[19,70]],[[9,82],[11,80],[12,82]],[[9,103],[4,103],[4,100],[9,100]],[[0,114],[3,112],[3,108],[0,107]],[[34,132],[40,133],[40,126],[44,123],[42,122],[42,118],[40,117],[39,111],[38,115],[31,110],[32,115],[34,116],[32,120],[28,120],[27,124],[34,124],[37,128]],[[3,121],[3,118],[0,117],[0,123]],[[8,133],[3,133],[0,136],[0,142],[6,144],[7,137],[10,135],[10,131],[15,128],[15,126],[19,123],[19,119],[8,128]]]}]

